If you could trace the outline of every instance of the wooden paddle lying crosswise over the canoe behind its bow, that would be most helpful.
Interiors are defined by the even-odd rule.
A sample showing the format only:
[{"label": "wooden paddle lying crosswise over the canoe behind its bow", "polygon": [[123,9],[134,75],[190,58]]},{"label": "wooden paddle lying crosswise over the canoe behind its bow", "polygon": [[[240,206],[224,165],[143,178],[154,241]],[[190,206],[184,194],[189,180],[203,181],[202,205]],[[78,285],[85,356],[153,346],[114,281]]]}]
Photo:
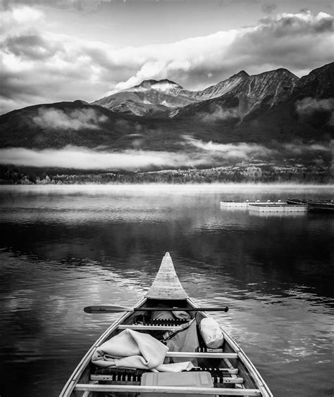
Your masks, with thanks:
[{"label": "wooden paddle lying crosswise over the canoe behind its bow", "polygon": [[171,310],[183,312],[228,312],[225,308],[123,308],[123,306],[87,306],[84,308],[86,313],[119,313],[119,312],[153,312],[156,310]]}]

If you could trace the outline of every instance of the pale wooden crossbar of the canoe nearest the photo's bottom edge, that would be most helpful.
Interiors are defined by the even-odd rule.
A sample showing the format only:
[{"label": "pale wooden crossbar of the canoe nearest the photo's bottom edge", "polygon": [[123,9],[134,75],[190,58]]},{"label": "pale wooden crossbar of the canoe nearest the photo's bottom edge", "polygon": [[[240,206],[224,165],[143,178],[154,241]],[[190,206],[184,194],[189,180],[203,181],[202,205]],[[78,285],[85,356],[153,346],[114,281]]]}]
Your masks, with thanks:
[{"label": "pale wooden crossbar of the canoe nearest the photo's bottom edge", "polygon": [[118,391],[128,393],[182,393],[197,396],[211,394],[213,396],[261,396],[259,389],[230,389],[218,387],[188,387],[188,386],[128,386],[116,384],[77,384],[75,391]]}]

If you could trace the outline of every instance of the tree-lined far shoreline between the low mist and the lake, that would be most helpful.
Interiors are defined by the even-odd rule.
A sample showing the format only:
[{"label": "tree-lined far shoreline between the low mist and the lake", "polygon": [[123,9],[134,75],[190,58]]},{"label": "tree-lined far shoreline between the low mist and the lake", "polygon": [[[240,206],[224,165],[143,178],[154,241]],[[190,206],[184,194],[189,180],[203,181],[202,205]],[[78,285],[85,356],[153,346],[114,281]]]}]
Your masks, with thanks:
[{"label": "tree-lined far shoreline between the low mist and the lake", "polygon": [[333,167],[238,163],[216,168],[171,170],[73,170],[0,165],[0,184],[214,184],[334,183]]}]

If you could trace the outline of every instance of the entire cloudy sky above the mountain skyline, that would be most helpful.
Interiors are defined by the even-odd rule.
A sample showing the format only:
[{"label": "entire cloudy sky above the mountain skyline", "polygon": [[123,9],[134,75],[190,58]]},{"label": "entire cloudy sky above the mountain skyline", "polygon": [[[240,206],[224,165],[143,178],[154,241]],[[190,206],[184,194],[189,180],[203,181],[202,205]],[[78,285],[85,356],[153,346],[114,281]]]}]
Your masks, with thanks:
[{"label": "entire cloudy sky above the mountain skyline", "polygon": [[0,114],[334,58],[331,0],[0,0]]}]

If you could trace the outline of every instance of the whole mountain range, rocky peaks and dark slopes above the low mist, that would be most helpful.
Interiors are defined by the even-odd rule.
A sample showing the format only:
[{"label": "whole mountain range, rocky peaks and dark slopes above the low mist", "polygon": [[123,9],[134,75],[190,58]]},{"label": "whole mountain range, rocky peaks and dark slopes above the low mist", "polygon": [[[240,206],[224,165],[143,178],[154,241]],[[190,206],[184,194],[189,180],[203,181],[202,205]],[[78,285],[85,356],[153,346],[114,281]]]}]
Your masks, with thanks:
[{"label": "whole mountain range, rocky peaks and dark slopes above the low mist", "polygon": [[242,70],[202,91],[145,80],[93,103],[48,103],[0,116],[0,148],[185,151],[194,141],[329,147],[333,132],[334,63],[301,78],[284,68]]}]

